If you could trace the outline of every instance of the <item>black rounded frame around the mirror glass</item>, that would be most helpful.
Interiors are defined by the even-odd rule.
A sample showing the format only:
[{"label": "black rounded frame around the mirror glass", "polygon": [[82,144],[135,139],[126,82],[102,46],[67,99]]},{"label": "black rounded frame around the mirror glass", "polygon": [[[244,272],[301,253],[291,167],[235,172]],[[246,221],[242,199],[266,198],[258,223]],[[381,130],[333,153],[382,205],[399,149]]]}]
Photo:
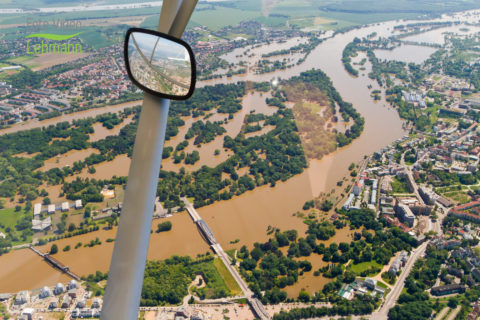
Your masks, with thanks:
[{"label": "black rounded frame around the mirror glass", "polygon": [[[164,38],[164,39],[176,42],[176,43],[182,45],[183,47],[185,47],[187,49],[188,54],[191,57],[191,63],[190,64],[191,64],[191,67],[192,67],[192,71],[191,71],[192,78],[191,78],[191,82],[190,82],[190,90],[188,91],[188,93],[185,96],[175,96],[175,95],[169,95],[169,94],[166,94],[166,93],[161,93],[161,92],[154,91],[154,90],[149,89],[146,86],[142,85],[141,83],[139,83],[135,79],[135,77],[133,77],[132,72],[130,70],[130,61],[128,59],[128,42],[130,40],[130,35],[131,35],[132,32],[147,33],[147,34],[151,34],[151,35],[154,35],[154,36],[158,36],[160,38]],[[126,66],[126,69],[127,69],[128,77],[133,82],[133,84],[135,84],[137,87],[139,87],[143,91],[146,91],[146,92],[148,92],[148,93],[150,93],[154,96],[157,96],[157,97],[160,97],[160,98],[166,98],[166,99],[170,99],[170,100],[187,100],[188,98],[190,98],[192,96],[193,92],[195,91],[195,84],[196,84],[196,79],[197,79],[197,74],[196,74],[197,69],[196,69],[196,63],[195,63],[195,55],[193,54],[193,51],[192,51],[192,48],[190,47],[190,45],[188,43],[186,43],[185,41],[183,41],[181,39],[178,39],[178,38],[175,38],[175,37],[172,37],[171,35],[168,35],[168,34],[165,34],[165,33],[162,33],[162,32],[158,32],[158,31],[153,31],[153,30],[144,29],[144,28],[130,28],[130,29],[127,30],[127,33],[125,34],[125,43],[124,43],[123,55],[124,55],[124,59],[125,59],[125,66]]]}]

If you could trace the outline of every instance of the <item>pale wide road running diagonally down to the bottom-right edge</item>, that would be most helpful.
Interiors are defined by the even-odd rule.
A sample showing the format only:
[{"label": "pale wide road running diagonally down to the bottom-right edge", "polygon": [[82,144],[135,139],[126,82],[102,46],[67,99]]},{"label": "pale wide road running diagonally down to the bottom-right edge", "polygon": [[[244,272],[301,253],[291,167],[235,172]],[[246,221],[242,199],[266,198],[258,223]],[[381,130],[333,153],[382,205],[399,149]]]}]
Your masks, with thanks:
[{"label": "pale wide road running diagonally down to the bottom-right edge", "polygon": [[385,298],[385,302],[383,305],[378,309],[376,312],[372,314],[370,317],[371,319],[375,320],[382,320],[382,319],[387,319],[388,318],[388,311],[390,308],[392,308],[395,303],[398,300],[398,297],[402,293],[403,287],[405,285],[405,279],[407,278],[408,274],[413,268],[413,265],[415,264],[415,261],[417,261],[418,258],[423,256],[425,253],[425,250],[427,249],[428,242],[424,242],[421,244],[418,248],[412,251],[410,254],[410,257],[408,258],[407,263],[405,264],[405,267],[402,270],[402,273],[397,279],[397,282],[395,283],[395,286],[392,288],[392,291],[387,295]]}]

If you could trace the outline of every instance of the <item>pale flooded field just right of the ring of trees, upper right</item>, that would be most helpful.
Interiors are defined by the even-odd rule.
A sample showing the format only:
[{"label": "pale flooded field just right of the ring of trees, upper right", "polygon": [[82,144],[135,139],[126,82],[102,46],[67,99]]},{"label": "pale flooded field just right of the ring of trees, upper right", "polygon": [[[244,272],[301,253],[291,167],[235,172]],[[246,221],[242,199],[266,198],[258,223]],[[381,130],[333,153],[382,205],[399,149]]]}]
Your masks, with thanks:
[{"label": "pale flooded field just right of the ring of trees, upper right", "polygon": [[396,60],[420,64],[427,60],[437,49],[424,46],[403,44],[393,50],[375,50],[380,60]]}]

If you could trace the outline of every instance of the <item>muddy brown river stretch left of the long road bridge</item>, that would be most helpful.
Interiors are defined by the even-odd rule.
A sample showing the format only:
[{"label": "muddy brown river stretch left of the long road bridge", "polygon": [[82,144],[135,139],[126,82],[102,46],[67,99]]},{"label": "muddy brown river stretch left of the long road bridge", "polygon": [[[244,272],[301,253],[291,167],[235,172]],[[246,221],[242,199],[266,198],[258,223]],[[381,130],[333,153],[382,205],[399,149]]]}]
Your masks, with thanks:
[{"label": "muddy brown river stretch left of the long road bridge", "polygon": [[[186,212],[174,215],[169,220],[173,225],[171,231],[151,234],[148,259],[165,259],[172,255],[195,257],[209,250],[207,243],[202,239]],[[160,222],[162,220],[154,220],[152,230],[156,230]],[[80,276],[95,273],[97,270],[106,272],[110,266],[114,244],[114,242],[107,242],[107,239],[114,239],[116,232],[116,228],[100,230],[54,241],[37,248],[42,252],[48,252],[52,244],[57,244],[59,251],[55,258]],[[97,237],[102,241],[101,245],[84,247]],[[82,243],[81,247],[74,249],[79,242]],[[183,244],[181,251],[178,250],[178,243]],[[67,245],[71,249],[65,252],[63,248]],[[58,282],[66,283],[70,280],[70,277],[51,267],[30,249],[15,250],[0,256],[0,266],[0,292],[35,289],[45,285],[52,286]]]}]

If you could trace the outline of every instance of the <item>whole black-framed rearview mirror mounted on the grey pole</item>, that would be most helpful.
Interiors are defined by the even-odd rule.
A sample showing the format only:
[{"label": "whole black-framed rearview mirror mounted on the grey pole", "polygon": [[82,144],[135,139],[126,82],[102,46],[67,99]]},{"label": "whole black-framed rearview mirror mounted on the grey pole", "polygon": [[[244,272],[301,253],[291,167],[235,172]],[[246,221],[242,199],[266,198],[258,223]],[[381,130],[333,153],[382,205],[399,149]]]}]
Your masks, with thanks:
[{"label": "whole black-framed rearview mirror mounted on the grey pole", "polygon": [[188,99],[195,89],[195,58],[180,39],[147,29],[131,28],[125,37],[125,64],[132,82],[153,95]]}]

